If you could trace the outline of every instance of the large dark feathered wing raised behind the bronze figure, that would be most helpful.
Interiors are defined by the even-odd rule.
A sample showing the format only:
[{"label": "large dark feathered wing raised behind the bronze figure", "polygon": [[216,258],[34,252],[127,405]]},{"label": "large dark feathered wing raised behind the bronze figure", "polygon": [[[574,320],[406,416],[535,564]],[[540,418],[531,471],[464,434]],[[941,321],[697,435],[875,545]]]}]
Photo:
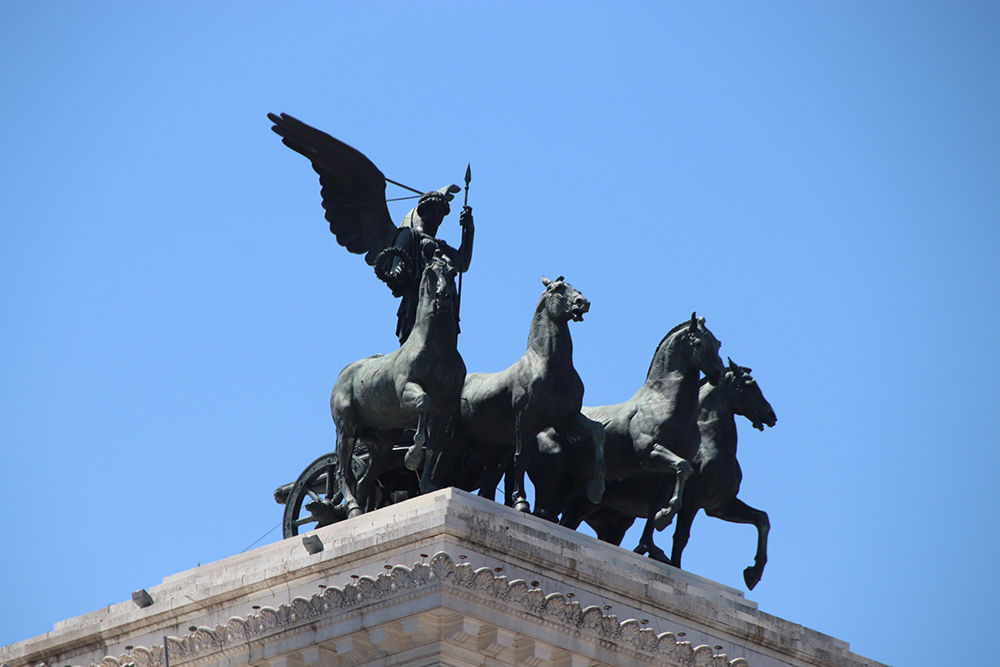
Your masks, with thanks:
[{"label": "large dark feathered wing raised behind the bronze figure", "polygon": [[385,205],[385,176],[361,151],[302,121],[269,113],[281,142],[312,163],[330,231],[353,253],[375,258],[392,245],[397,228]]}]

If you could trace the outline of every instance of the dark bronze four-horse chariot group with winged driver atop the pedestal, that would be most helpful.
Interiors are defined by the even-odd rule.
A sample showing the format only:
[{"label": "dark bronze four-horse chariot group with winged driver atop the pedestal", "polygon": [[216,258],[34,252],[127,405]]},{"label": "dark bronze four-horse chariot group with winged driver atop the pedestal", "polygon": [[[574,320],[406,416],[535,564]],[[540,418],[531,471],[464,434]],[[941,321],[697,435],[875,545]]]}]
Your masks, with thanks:
[{"label": "dark bronze four-horse chariot group with winged driver atop the pedestal", "polygon": [[[446,484],[493,499],[505,474],[507,504],[527,512],[524,475],[530,472],[538,516],[573,528],[587,521],[598,537],[615,544],[643,517],[635,551],[676,566],[700,509],[753,523],[757,554],[744,579],[749,588],[757,584],[767,561],[769,523],[766,513],[736,497],[741,471],[734,414],[761,430],[776,418],[750,369],[730,360],[725,372],[720,343],[704,318],[692,313],[667,332],[632,398],[584,408],[569,321],[581,321],[590,303],[561,276],[543,278],[525,353],[499,373],[466,376],[457,337],[461,276],[471,264],[475,236],[471,169],[455,249],[437,233],[461,191],[457,185],[421,194],[387,179],[361,152],[324,132],[287,114],[268,118],[282,142],[319,174],[337,242],[363,254],[400,298],[400,347],[348,365],[334,385],[336,450],[275,492],[286,505],[286,537]],[[420,194],[398,227],[386,206],[386,183]],[[668,559],[653,531],[675,515]]]}]

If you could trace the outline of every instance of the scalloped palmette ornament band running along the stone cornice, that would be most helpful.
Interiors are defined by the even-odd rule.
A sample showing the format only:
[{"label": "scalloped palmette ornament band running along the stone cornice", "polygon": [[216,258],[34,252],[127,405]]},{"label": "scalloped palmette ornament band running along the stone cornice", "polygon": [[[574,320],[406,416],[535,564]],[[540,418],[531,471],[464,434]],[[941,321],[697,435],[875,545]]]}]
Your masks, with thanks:
[{"label": "scalloped palmette ornament band running along the stone cornice", "polygon": [[[324,618],[390,598],[403,597],[432,586],[456,586],[503,603],[507,612],[536,617],[572,632],[582,633],[621,649],[634,651],[660,664],[683,667],[743,667],[743,658],[730,660],[709,646],[691,646],[673,633],[657,634],[635,619],[619,621],[597,606],[582,606],[562,593],[546,594],[523,579],[506,576],[468,563],[456,563],[445,552],[412,567],[396,565],[375,577],[362,576],[343,587],[331,586],[310,598],[298,597],[278,607],[263,607],[245,617],[233,617],[214,628],[199,627],[183,637],[167,637],[170,665],[210,660],[228,649],[242,650],[250,641],[261,640]],[[444,639],[447,639],[445,633]],[[36,667],[43,667],[39,663]],[[163,646],[135,647],[120,657],[108,656],[91,667],[164,667]]]}]

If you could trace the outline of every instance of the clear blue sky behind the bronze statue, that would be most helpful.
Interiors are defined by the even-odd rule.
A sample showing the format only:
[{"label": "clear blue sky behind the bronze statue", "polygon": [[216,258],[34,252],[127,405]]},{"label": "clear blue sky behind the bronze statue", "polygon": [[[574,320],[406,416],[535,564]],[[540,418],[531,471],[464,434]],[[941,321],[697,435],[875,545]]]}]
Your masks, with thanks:
[{"label": "clear blue sky behind the bronze statue", "polygon": [[[591,405],[707,318],[779,418],[740,424],[761,609],[892,664],[993,660],[998,26],[913,0],[3,3],[0,644],[274,528],[337,373],[395,346],[271,111],[421,189],[472,163],[470,371],[521,354],[543,274],[592,301]],[[754,543],[700,516],[685,566],[742,588]]]}]

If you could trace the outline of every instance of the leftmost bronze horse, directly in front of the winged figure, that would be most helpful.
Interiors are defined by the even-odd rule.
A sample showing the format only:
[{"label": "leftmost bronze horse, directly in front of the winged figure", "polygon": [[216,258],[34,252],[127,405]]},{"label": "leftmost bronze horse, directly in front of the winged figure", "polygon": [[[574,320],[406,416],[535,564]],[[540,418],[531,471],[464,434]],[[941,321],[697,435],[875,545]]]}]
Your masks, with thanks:
[{"label": "leftmost bronze horse, directly in front of the winged figure", "polygon": [[[348,517],[370,505],[369,489],[382,468],[387,448],[401,439],[403,429],[416,425],[407,455],[411,469],[419,465],[426,446],[433,450],[420,478],[420,490],[433,490],[434,467],[444,446],[448,420],[458,410],[465,380],[465,362],[458,353],[455,317],[455,269],[435,252],[420,278],[416,322],[399,349],[368,357],[341,371],[330,396],[337,426],[337,453]],[[357,440],[372,443],[371,466],[361,482],[350,465]],[[378,460],[377,460],[378,459]]]}]

